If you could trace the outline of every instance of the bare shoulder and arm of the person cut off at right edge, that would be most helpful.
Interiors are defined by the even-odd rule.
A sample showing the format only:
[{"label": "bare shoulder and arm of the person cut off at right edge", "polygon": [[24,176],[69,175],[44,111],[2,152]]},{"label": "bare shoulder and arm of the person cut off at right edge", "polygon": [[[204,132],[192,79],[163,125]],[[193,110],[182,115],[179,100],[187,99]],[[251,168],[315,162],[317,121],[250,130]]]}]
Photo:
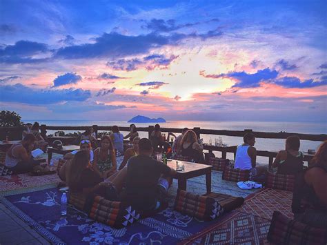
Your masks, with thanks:
[{"label": "bare shoulder and arm of the person cut off at right edge", "polygon": [[313,186],[317,197],[327,207],[327,173],[321,168],[311,168],[304,179],[309,186]]}]

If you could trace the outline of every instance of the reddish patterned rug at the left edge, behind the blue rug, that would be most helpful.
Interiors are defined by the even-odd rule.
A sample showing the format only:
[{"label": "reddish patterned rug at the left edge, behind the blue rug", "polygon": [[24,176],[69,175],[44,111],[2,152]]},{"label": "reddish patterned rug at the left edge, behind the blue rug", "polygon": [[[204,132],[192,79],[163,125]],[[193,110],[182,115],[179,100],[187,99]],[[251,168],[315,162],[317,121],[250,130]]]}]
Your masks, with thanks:
[{"label": "reddish patterned rug at the left edge, behind the blue rug", "polygon": [[8,190],[18,190],[21,188],[30,188],[34,186],[43,186],[47,184],[59,183],[60,179],[57,173],[53,175],[30,176],[28,173],[21,175],[0,176],[0,193]]}]

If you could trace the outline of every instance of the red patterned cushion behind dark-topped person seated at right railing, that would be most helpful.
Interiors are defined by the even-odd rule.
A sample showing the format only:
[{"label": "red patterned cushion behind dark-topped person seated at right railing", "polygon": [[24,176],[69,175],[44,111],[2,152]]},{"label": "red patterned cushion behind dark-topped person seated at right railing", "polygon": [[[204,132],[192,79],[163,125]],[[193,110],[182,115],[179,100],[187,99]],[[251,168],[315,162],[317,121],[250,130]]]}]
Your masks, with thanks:
[{"label": "red patterned cushion behind dark-topped person seated at right railing", "polygon": [[295,185],[295,175],[281,175],[278,173],[268,173],[266,187],[293,191]]}]

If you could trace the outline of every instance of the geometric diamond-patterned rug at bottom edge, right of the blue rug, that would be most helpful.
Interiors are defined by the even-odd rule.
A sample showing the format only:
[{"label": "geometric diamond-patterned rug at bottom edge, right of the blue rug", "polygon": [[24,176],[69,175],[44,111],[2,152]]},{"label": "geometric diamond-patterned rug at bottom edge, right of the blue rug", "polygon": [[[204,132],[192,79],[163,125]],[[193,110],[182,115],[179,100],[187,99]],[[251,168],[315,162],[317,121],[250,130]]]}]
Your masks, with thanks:
[{"label": "geometric diamond-patterned rug at bottom edge, right of the blue rug", "polygon": [[235,211],[219,224],[180,244],[269,244],[266,239],[269,226],[269,219]]}]

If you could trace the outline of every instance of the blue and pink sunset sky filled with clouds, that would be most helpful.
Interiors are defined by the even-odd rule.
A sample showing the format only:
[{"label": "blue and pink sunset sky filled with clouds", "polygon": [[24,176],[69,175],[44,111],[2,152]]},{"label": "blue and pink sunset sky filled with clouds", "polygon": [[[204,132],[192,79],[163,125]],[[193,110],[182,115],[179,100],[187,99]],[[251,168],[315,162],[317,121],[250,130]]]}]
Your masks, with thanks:
[{"label": "blue and pink sunset sky filled with clouds", "polygon": [[327,122],[326,12],[325,0],[0,0],[0,108]]}]

